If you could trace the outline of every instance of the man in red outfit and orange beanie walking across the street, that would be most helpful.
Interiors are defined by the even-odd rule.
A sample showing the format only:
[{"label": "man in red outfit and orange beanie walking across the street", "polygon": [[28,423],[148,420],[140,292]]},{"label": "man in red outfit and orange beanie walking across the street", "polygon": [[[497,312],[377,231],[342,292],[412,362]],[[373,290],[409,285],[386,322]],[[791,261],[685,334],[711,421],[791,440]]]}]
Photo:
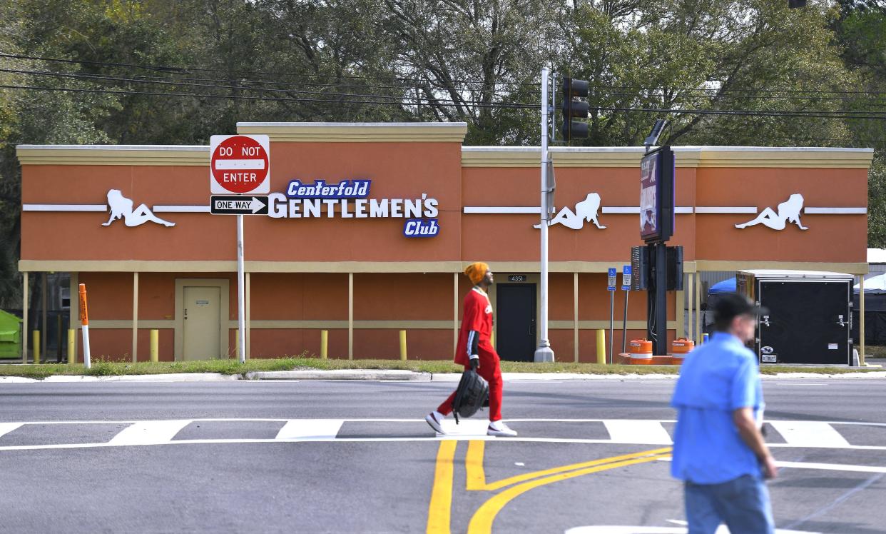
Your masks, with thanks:
[{"label": "man in red outfit and orange beanie walking across the street", "polygon": [[[489,382],[489,436],[517,436],[517,432],[501,422],[501,366],[499,356],[492,343],[493,305],[486,294],[493,285],[493,272],[489,265],[471,263],[464,270],[474,287],[464,297],[462,329],[455,346],[455,363],[464,365],[465,370],[473,369]],[[439,408],[424,418],[439,434],[443,430],[443,419],[452,413],[455,392],[439,405]]]}]

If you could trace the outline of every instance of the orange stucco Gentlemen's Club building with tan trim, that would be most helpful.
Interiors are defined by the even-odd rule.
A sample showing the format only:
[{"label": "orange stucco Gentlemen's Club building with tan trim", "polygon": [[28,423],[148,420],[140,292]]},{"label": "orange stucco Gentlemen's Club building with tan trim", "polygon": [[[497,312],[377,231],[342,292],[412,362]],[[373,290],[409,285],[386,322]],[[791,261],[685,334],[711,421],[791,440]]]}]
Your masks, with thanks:
[{"label": "orange stucco Gentlemen's Club building with tan trim", "polygon": [[[319,353],[322,330],[329,331],[330,357],[397,357],[398,331],[407,330],[410,358],[448,359],[470,288],[462,269],[482,260],[496,273],[491,298],[502,357],[532,359],[540,150],[462,146],[465,132],[463,123],[237,125],[237,133],[270,139],[269,214],[245,216],[248,357]],[[700,331],[701,271],[867,272],[873,151],[673,150],[670,244],[684,247],[685,290],[670,294],[672,336]],[[595,330],[609,326],[606,271],[620,271],[631,247],[641,245],[643,149],[552,153],[556,208],[580,213],[570,219],[578,228],[549,228],[551,346],[558,360],[595,361]],[[209,147],[19,145],[18,156],[19,270],[32,277],[70,272],[72,295],[86,284],[95,357],[146,360],[152,329],[159,330],[161,360],[232,357],[236,217],[209,213]],[[293,180],[369,185],[362,199],[324,204],[287,198]],[[113,190],[131,202],[116,219],[109,214]],[[582,211],[587,204],[577,207],[590,193],[600,199],[593,214]],[[799,211],[787,213],[796,195]],[[416,219],[435,219],[437,234],[405,235]],[[629,302],[628,335],[641,336],[645,292],[632,292]],[[74,323],[76,306],[71,312]]]}]

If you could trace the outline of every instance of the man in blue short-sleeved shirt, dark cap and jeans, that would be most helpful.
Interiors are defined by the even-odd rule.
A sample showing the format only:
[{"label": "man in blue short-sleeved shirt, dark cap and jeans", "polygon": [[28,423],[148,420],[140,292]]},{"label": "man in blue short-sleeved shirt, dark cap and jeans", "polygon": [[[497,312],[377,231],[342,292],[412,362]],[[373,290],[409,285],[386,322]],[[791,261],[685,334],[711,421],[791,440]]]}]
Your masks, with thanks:
[{"label": "man in blue short-sleeved shirt, dark cap and jeans", "polygon": [[733,534],[772,534],[764,478],[775,460],[760,433],[764,409],[754,339],[766,310],[727,294],[714,307],[718,332],[689,353],[671,405],[677,409],[671,475],[684,482],[689,534],[713,534],[725,522]]}]

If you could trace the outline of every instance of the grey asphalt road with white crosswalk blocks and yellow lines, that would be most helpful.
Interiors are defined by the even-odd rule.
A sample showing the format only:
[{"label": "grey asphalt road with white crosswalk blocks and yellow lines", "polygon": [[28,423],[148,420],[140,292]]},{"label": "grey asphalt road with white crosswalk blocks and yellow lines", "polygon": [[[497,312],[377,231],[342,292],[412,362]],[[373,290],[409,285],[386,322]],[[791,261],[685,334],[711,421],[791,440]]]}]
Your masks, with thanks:
[{"label": "grey asphalt road with white crosswalk blocks and yellow lines", "polygon": [[[681,532],[672,384],[506,383],[488,440],[447,382],[4,384],[0,531]],[[886,532],[886,381],[764,389],[777,526]]]}]

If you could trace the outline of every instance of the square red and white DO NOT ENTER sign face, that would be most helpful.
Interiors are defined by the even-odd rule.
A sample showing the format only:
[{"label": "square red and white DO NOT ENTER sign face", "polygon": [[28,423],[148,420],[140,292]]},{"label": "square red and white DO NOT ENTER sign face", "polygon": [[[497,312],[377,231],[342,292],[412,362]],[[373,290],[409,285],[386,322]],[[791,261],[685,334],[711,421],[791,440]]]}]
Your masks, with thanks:
[{"label": "square red and white DO NOT ENTER sign face", "polygon": [[270,192],[268,136],[213,136],[209,153],[211,192]]}]

